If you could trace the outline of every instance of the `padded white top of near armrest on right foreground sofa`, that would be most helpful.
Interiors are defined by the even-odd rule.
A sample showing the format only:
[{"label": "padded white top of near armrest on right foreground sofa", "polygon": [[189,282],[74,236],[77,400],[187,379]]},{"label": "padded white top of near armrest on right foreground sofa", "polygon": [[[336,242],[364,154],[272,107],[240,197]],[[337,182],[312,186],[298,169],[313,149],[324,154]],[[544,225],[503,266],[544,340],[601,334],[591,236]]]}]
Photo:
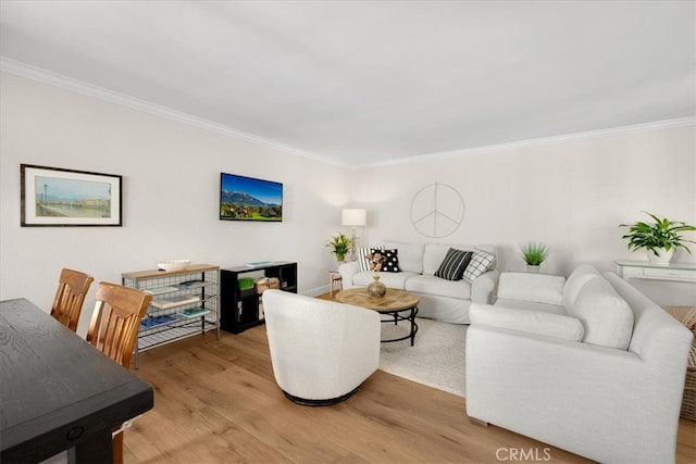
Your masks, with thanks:
[{"label": "padded white top of near armrest on right foreground sofa", "polygon": [[585,334],[583,323],[575,317],[539,311],[472,303],[469,317],[472,324],[485,324],[570,341],[582,341]]}]

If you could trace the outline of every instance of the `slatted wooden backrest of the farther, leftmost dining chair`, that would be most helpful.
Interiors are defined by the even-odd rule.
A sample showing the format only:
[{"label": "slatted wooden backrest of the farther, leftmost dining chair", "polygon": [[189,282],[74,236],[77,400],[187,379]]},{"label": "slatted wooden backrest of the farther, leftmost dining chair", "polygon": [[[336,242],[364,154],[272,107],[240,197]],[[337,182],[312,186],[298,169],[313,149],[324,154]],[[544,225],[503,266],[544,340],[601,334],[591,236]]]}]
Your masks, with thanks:
[{"label": "slatted wooden backrest of the farther, leftmost dining chair", "polygon": [[51,316],[65,327],[76,331],[85,296],[94,280],[91,276],[79,271],[61,271],[58,291],[51,306]]}]

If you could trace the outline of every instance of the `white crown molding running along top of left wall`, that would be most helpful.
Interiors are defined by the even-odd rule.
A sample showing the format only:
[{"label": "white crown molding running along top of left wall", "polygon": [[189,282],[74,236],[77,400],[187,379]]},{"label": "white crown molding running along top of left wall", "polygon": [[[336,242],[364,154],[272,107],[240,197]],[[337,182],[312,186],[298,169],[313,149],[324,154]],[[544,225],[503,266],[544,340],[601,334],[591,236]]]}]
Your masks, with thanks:
[{"label": "white crown molding running along top of left wall", "polygon": [[195,127],[212,130],[226,136],[244,139],[254,143],[259,143],[265,147],[279,149],[290,152],[293,154],[309,158],[314,161],[321,161],[322,163],[331,163],[331,161],[322,158],[318,154],[303,151],[275,140],[266,139],[253,134],[237,130],[232,127],[224,126],[222,124],[213,123],[201,117],[191,116],[190,114],[183,113],[181,111],[172,110],[166,106],[162,106],[157,103],[152,103],[146,100],[141,100],[135,97],[130,97],[124,93],[119,93],[112,90],[108,90],[103,87],[95,86],[92,84],[85,83],[83,80],[74,79],[72,77],[64,76],[62,74],[52,73],[40,67],[30,66],[28,64],[10,60],[4,57],[0,57],[0,71],[14,74],[20,77],[26,77],[28,79],[37,80],[42,84],[47,84],[53,87],[70,90],[76,93],[80,93],[87,97],[92,97],[99,100],[108,101],[110,103],[120,104],[130,108],[133,110],[142,111],[157,116],[166,117],[179,123],[188,124]]}]

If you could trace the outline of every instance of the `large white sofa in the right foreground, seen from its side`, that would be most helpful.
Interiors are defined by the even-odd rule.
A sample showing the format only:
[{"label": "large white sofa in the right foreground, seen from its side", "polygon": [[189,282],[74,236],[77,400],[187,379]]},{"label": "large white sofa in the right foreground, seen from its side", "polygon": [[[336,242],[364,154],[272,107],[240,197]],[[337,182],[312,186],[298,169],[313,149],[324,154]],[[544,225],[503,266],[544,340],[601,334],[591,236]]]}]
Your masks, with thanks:
[{"label": "large white sofa in the right foreground, seen from its side", "polygon": [[602,463],[674,462],[693,335],[617,275],[502,273],[472,304],[467,413]]}]

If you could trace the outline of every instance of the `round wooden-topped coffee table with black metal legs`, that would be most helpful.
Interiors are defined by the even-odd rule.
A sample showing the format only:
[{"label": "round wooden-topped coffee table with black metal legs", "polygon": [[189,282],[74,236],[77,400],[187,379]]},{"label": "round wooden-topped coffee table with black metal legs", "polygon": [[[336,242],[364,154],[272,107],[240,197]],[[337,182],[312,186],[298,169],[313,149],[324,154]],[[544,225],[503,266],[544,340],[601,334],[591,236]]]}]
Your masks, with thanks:
[{"label": "round wooden-topped coffee table with black metal legs", "polygon": [[366,308],[369,310],[376,311],[380,314],[387,314],[391,316],[386,319],[383,318],[383,323],[394,322],[394,324],[397,325],[399,321],[409,321],[411,323],[411,330],[406,337],[390,338],[382,341],[400,341],[410,338],[411,347],[413,346],[415,333],[418,331],[415,315],[418,314],[418,303],[420,301],[420,299],[413,293],[409,293],[406,290],[397,290],[396,288],[388,288],[387,294],[384,297],[372,298],[368,294],[366,288],[360,287],[339,291],[336,293],[336,301]]}]

